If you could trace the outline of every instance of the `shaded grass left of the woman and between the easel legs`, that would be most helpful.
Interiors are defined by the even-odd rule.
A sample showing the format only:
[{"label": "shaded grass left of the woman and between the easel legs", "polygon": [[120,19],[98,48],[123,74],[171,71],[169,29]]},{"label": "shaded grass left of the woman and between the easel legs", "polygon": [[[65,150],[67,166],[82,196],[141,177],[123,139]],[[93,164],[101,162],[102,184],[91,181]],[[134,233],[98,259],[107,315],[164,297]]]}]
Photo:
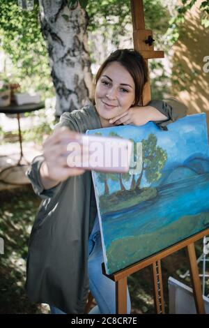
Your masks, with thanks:
[{"label": "shaded grass left of the woman and between the easel legs", "polygon": [[[25,295],[26,256],[29,234],[40,198],[34,195],[31,186],[0,194],[0,237],[4,240],[4,254],[0,255],[0,313],[48,313],[47,306],[33,304]],[[196,244],[197,257],[201,254],[202,242]],[[185,251],[173,253],[162,260],[164,299],[169,308],[167,280],[169,276],[190,285],[179,278],[188,269]],[[36,282],[34,282],[36,283]],[[153,285],[150,267],[128,277],[132,300],[132,313],[154,313]],[[207,289],[208,289],[207,285]]]}]

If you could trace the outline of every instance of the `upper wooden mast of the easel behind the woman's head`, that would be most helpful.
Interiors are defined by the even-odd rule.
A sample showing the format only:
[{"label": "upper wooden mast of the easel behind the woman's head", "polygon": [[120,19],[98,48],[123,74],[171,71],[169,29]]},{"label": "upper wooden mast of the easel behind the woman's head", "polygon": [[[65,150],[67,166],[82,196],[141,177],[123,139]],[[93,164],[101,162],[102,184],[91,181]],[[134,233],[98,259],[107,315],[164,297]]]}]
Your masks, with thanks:
[{"label": "upper wooden mast of the easel behind the woman's head", "polygon": [[[139,51],[146,60],[151,58],[164,58],[163,51],[155,51],[153,46],[153,32],[145,29],[143,0],[130,0],[132,11],[134,49]],[[144,87],[143,105],[151,100],[150,82]]]}]

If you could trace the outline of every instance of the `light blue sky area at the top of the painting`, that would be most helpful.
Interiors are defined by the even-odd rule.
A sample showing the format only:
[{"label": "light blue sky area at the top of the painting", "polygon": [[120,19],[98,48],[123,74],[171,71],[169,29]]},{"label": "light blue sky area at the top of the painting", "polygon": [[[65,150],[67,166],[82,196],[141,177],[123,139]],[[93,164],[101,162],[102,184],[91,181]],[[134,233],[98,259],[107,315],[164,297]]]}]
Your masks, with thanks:
[{"label": "light blue sky area at the top of the painting", "polygon": [[[168,160],[164,170],[183,165],[184,161],[191,156],[209,158],[206,114],[189,115],[169,124],[168,129],[168,131],[162,131],[153,122],[149,122],[144,126],[117,126],[91,130],[88,134],[100,131],[103,136],[108,136],[111,131],[114,131],[125,139],[131,136],[134,141],[140,142],[153,133],[157,137],[157,145],[167,151]],[[126,188],[128,187],[129,182],[126,183]],[[103,193],[103,184],[100,187],[97,184],[97,188],[99,194]],[[112,181],[109,181],[109,188],[111,192],[119,189]]]}]

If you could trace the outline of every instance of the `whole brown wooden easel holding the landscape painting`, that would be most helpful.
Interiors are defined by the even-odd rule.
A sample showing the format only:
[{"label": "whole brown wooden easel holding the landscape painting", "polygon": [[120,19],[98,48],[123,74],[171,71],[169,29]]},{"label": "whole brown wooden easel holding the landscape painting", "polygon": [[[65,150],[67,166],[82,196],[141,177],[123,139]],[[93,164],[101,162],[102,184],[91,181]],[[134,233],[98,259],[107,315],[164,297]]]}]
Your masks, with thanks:
[{"label": "whole brown wooden easel holding the landscape painting", "polygon": [[[153,32],[145,29],[143,0],[130,0],[132,10],[132,25],[133,25],[133,40],[134,49],[139,51],[148,64],[148,59],[164,58],[163,51],[155,51],[153,47]],[[151,99],[150,82],[146,84],[143,94],[144,105]],[[164,295],[162,288],[162,269],[161,260],[168,255],[179,251],[181,248],[187,248],[187,256],[189,260],[189,271],[192,278],[192,287],[194,291],[194,301],[196,305],[196,313],[205,313],[203,304],[203,296],[201,291],[201,282],[199,271],[196,262],[196,253],[194,242],[209,234],[209,229],[203,230],[192,237],[180,241],[169,248],[156,253],[145,260],[132,264],[130,267],[122,269],[114,274],[107,275],[105,272],[104,263],[102,263],[102,273],[116,283],[116,313],[124,314],[127,312],[127,276],[134,274],[148,265],[152,265],[153,269],[153,284],[154,284],[154,301],[155,312],[164,313]],[[93,296],[91,292],[88,295],[88,301],[85,308],[85,313],[88,313],[91,306]]]}]

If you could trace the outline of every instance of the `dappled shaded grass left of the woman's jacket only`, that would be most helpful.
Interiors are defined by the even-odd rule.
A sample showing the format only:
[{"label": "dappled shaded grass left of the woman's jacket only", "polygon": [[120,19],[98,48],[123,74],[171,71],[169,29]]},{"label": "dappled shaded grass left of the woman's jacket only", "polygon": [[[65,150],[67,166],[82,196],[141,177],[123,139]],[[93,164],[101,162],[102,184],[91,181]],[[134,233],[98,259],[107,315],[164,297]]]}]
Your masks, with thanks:
[{"label": "dappled shaded grass left of the woman's jacket only", "polygon": [[1,192],[0,313],[47,312],[45,306],[32,304],[24,290],[29,234],[39,204],[31,186]]}]

